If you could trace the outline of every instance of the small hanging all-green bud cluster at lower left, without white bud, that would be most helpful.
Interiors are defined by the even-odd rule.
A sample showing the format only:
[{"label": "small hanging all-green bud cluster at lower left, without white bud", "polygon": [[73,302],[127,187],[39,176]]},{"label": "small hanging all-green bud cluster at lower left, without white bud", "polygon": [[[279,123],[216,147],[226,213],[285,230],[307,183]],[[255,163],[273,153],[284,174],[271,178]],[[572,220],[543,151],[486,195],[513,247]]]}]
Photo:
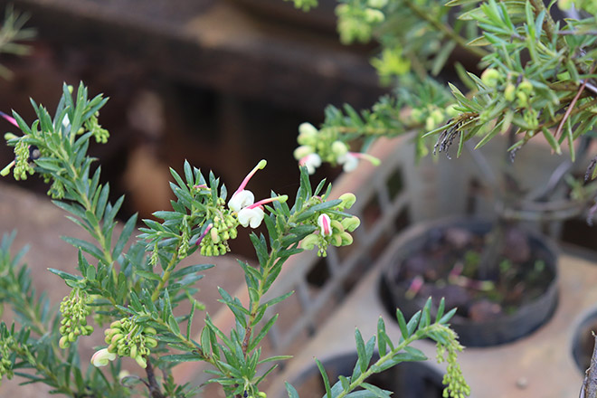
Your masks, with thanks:
[{"label": "small hanging all-green bud cluster at lower left, without white bud", "polygon": [[91,312],[89,304],[89,296],[81,289],[72,289],[71,294],[62,299],[59,328],[62,337],[58,343],[61,348],[68,348],[79,336],[90,336],[93,333],[93,327],[87,325],[87,317]]}]

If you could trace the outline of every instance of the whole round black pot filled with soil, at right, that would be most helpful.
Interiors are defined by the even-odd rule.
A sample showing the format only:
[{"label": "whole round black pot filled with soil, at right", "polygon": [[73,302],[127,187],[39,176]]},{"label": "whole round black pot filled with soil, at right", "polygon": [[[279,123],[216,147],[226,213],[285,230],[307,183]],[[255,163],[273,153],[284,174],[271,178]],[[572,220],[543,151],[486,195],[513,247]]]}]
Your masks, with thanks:
[{"label": "whole round black pot filled with soil, at right", "polygon": [[388,310],[401,308],[411,317],[427,298],[436,305],[445,298],[446,308],[458,308],[451,324],[465,346],[507,343],[543,324],[557,300],[554,249],[539,235],[508,226],[498,267],[483,271],[479,261],[491,226],[450,219],[405,232],[382,280]]}]

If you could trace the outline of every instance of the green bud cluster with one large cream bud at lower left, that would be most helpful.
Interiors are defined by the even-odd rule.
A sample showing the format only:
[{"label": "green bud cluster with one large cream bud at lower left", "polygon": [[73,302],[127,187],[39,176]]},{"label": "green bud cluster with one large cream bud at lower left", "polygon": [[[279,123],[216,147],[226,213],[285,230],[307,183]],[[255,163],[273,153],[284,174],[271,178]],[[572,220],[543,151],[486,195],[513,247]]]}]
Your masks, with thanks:
[{"label": "green bud cluster with one large cream bud at lower left", "polygon": [[122,318],[110,324],[104,331],[105,341],[108,348],[103,348],[93,357],[91,364],[95,366],[108,365],[109,361],[116,359],[116,356],[130,356],[142,368],[147,367],[146,355],[150,349],[157,346],[156,329],[153,327],[142,327],[131,318]]}]

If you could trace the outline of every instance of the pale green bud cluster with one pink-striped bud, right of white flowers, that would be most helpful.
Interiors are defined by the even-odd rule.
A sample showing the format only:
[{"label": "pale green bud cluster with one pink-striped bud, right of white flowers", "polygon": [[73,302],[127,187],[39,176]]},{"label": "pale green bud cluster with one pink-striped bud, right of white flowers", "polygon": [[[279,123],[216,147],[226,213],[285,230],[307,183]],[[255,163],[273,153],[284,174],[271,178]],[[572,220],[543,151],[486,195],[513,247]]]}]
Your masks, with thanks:
[{"label": "pale green bud cluster with one pink-striped bud, right of white flowers", "polygon": [[[349,209],[355,204],[354,194],[343,194],[340,196],[342,202],[333,210],[340,212]],[[320,213],[317,216],[317,230],[307,235],[300,247],[305,250],[312,250],[316,246],[318,248],[317,255],[325,257],[327,255],[327,246],[347,246],[353,242],[353,237],[350,232],[360,225],[360,220],[356,216],[342,217],[336,213]]]}]

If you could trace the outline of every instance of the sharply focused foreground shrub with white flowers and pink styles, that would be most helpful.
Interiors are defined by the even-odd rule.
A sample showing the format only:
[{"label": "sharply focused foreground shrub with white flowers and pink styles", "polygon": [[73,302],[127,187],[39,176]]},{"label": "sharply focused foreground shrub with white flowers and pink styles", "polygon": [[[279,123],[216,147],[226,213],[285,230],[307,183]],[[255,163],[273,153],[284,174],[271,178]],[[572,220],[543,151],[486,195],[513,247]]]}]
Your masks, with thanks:
[{"label": "sharply focused foreground shrub with white flowers and pink styles", "polygon": [[[313,189],[307,167],[302,167],[293,204],[285,194],[271,194],[255,202],[247,185],[266,166],[261,160],[228,198],[226,187],[213,173],[204,175],[185,162],[183,175],[171,170],[176,198],[172,209],[154,213],[156,219],[163,220],[161,223],[144,220],[137,242],[127,248],[137,215],[128,218],[121,230],[116,227],[124,198],[109,202],[109,184],[101,182],[101,169],[94,167],[95,159],[87,154],[90,139],[106,142],[109,137],[99,124],[99,111],[105,103],[101,95],[90,99],[82,84],[76,92],[64,85],[53,116],[33,100],[37,119],[31,124],[16,112],[12,117],[3,114],[21,133],[5,134],[15,157],[0,174],[12,172],[17,180],[40,175],[50,184],[48,194],[53,203],[89,232],[90,241],[63,238],[79,251],[79,272],[50,270],[71,288],[57,315],[42,304],[43,296],[34,293],[28,270],[19,264],[23,252],[11,256],[12,236],[5,236],[0,245],[0,298],[15,309],[19,326],[0,324],[0,375],[11,378],[16,374],[29,383],[50,385],[52,393],[71,397],[124,397],[133,393],[153,398],[190,397],[198,388],[177,384],[172,369],[181,362],[201,361],[211,365],[210,382],[221,384],[226,396],[266,396],[261,382],[280,361],[288,359],[261,355],[263,338],[278,317],[266,319],[266,309],[292,292],[267,301],[264,295],[290,256],[316,247],[318,254],[325,256],[328,245],[352,242],[351,232],[360,222],[346,211],[355,203],[355,195],[330,198],[330,185],[321,182]],[[267,235],[251,232],[258,266],[239,261],[249,302],[243,304],[220,289],[235,326],[223,330],[206,316],[200,336],[191,336],[194,317],[201,311],[194,299],[195,282],[213,265],[182,267],[180,261],[195,251],[206,256],[223,255],[241,227],[254,229],[261,223]],[[185,301],[190,303],[190,312],[176,316],[174,310]],[[425,359],[410,346],[422,338],[435,340],[439,358],[448,362],[446,394],[468,394],[469,387],[456,362],[462,347],[447,326],[453,311],[444,313],[441,308],[431,319],[430,308],[431,301],[408,322],[397,311],[402,331],[397,342],[385,333],[381,318],[377,336],[366,342],[356,330],[355,371],[336,384],[330,384],[317,362],[326,396],[389,396],[389,392],[365,383],[366,377],[403,361]],[[91,319],[97,327],[90,325]],[[100,334],[104,344],[86,358],[92,366],[84,372],[78,341],[94,334]],[[375,347],[380,358],[372,362]],[[120,359],[124,357],[134,359],[145,376],[122,376]],[[33,373],[22,369],[33,369]],[[135,385],[147,388],[134,389]],[[365,390],[355,392],[357,387]],[[298,396],[291,385],[287,389],[290,397]]]}]

